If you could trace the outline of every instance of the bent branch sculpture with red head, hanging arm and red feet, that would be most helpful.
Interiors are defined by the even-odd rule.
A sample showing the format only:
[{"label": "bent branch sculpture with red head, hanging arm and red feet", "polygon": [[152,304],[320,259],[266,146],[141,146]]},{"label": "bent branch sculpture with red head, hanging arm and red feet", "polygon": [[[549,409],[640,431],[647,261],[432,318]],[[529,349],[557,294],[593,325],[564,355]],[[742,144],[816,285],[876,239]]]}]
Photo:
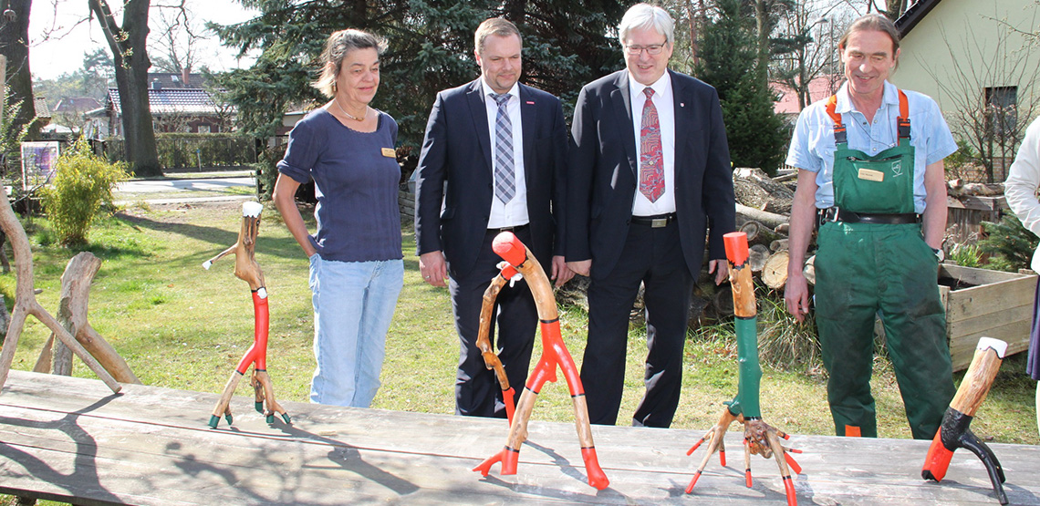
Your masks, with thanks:
[{"label": "bent branch sculpture with red head, hanging arm and red feet", "polygon": [[[603,470],[599,467],[599,460],[596,458],[596,446],[593,444],[592,427],[589,425],[589,407],[586,404],[584,389],[581,387],[581,378],[578,376],[577,367],[574,366],[574,359],[567,350],[567,346],[564,345],[560,334],[560,315],[556,313],[556,299],[552,295],[549,278],[530,250],[512,233],[499,234],[495,238],[492,249],[505,260],[499,277],[512,279],[520,274],[527,279],[527,285],[530,287],[535,303],[538,307],[538,317],[541,320],[542,356],[528,376],[523,393],[520,394],[520,402],[517,404],[515,416],[510,423],[510,433],[505,441],[505,447],[473,468],[473,471],[488,476],[491,467],[496,462],[501,462],[503,475],[516,474],[520,446],[527,440],[527,421],[530,420],[530,414],[535,408],[535,400],[546,381],[554,382],[556,380],[556,367],[558,366],[564,372],[567,387],[571,391],[571,398],[574,400],[574,424],[577,426],[578,441],[581,444],[581,458],[584,460],[586,474],[589,475],[589,484],[600,490],[606,488],[610,481],[603,474]],[[492,286],[498,283],[497,279],[492,282]],[[497,294],[497,291],[491,289],[488,292],[492,295]],[[486,293],[485,296],[487,297],[487,295]],[[493,352],[490,354],[494,355]],[[485,361],[488,361],[488,353],[485,353],[484,356]],[[497,362],[497,356],[493,362]],[[488,367],[491,368],[492,363],[489,363]],[[503,376],[504,374],[499,375],[500,378]]]}]

